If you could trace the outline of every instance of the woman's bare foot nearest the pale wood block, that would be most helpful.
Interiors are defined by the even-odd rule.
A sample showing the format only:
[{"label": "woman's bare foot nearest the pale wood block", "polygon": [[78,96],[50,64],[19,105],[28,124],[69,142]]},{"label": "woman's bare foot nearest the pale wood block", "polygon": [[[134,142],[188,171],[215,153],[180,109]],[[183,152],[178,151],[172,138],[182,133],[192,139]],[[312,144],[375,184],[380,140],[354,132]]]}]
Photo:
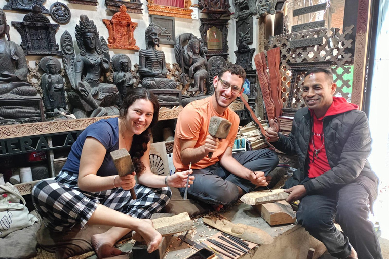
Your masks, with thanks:
[{"label": "woman's bare foot nearest the pale wood block", "polygon": [[140,219],[140,221],[142,222],[139,224],[136,232],[133,232],[132,238],[136,241],[140,241],[143,238],[147,243],[147,252],[152,253],[162,242],[162,236],[154,229],[151,220]]}]

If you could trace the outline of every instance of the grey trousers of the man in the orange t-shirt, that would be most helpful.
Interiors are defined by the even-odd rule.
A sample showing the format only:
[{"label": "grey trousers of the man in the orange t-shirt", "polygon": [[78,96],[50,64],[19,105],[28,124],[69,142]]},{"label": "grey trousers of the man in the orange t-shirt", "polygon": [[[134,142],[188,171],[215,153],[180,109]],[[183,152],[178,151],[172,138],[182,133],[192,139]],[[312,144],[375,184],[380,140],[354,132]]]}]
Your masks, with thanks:
[{"label": "grey trousers of the man in the orange t-shirt", "polygon": [[[276,152],[260,149],[232,154],[240,164],[254,171],[263,171],[268,175],[278,165]],[[255,189],[249,180],[231,174],[220,163],[203,169],[193,170],[195,181],[188,189],[188,198],[197,199],[207,204],[230,204],[238,200],[238,186],[246,193]],[[185,188],[179,188],[181,196]]]}]

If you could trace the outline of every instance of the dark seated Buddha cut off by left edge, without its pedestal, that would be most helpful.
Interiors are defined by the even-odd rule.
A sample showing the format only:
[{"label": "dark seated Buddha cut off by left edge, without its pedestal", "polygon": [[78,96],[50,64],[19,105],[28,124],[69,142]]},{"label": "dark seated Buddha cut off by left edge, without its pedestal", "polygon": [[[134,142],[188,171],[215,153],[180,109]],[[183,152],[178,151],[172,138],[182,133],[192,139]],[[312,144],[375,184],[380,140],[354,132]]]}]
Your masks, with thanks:
[{"label": "dark seated Buddha cut off by left edge, without its pedestal", "polygon": [[36,88],[27,83],[28,68],[23,49],[10,41],[9,30],[6,15],[0,9],[0,99],[36,96]]}]

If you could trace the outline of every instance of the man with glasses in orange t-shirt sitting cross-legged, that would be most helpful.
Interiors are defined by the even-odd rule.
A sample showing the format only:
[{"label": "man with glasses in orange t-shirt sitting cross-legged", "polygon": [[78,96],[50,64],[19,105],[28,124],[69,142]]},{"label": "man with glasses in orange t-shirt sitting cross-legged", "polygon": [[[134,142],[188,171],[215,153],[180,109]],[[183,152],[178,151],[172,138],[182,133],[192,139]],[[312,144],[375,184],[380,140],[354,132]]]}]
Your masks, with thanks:
[{"label": "man with glasses in orange t-shirt sitting cross-legged", "polygon": [[[267,186],[270,177],[266,175],[279,161],[276,153],[269,149],[232,154],[239,116],[228,106],[242,95],[245,78],[246,72],[241,66],[224,67],[213,79],[215,93],[189,103],[177,120],[174,166],[177,171],[184,171],[192,163],[195,181],[188,189],[188,197],[211,204],[216,210],[259,186]],[[212,116],[232,123],[226,139],[219,140],[208,134]],[[209,152],[213,152],[212,158],[208,158]],[[180,188],[181,195],[184,191],[185,188]]]}]

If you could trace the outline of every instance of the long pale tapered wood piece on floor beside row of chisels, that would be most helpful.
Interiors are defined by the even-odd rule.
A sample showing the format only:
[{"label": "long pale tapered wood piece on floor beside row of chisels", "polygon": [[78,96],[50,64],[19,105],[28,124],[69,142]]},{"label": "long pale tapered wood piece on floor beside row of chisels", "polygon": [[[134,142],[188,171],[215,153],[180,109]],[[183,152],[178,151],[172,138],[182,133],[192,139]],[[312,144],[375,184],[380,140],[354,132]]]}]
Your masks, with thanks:
[{"label": "long pale tapered wood piece on floor beside row of chisels", "polygon": [[231,236],[235,236],[255,244],[268,245],[273,242],[273,237],[271,237],[267,232],[252,226],[241,223],[234,224],[227,220],[219,220],[216,217],[209,216],[204,217],[203,221],[205,224],[208,224],[209,226],[223,231]]}]

